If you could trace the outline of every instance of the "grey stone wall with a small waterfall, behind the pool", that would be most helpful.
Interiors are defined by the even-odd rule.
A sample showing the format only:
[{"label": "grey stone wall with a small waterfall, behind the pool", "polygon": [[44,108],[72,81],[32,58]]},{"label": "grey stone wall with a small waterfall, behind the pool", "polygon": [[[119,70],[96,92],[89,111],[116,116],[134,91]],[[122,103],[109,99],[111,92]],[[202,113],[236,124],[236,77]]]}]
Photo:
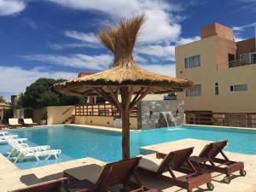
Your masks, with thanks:
[{"label": "grey stone wall with a small waterfall, behind the pool", "polygon": [[184,123],[183,102],[181,101],[143,101],[138,103],[137,111],[137,126],[139,129],[166,126],[160,124],[160,112],[172,112],[173,116],[177,119],[177,125]]}]

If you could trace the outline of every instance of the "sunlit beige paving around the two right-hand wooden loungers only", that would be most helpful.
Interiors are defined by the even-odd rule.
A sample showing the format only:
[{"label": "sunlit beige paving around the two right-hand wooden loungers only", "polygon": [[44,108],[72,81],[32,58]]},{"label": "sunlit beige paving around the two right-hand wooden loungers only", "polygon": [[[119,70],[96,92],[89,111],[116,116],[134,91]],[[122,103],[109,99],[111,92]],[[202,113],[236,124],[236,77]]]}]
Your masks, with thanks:
[{"label": "sunlit beige paving around the two right-hand wooden loungers only", "polygon": [[[193,155],[199,155],[201,150],[205,147],[207,143],[211,141],[197,140],[197,139],[182,139],[170,143],[160,143],[156,145],[150,145],[143,147],[141,149],[149,152],[162,152],[168,154],[173,150],[178,150],[182,148],[195,147]],[[249,154],[238,154],[225,152],[230,160],[243,161],[245,164],[245,170],[247,171],[246,177],[241,177],[239,172],[236,172],[231,176],[231,183],[226,184],[223,182],[224,174],[212,173],[212,183],[215,189],[213,191],[219,192],[253,192],[256,191],[256,155]],[[154,179],[144,177],[144,183],[148,183],[148,186],[160,189],[160,191],[173,192],[173,191],[185,191],[178,189],[177,187],[171,187],[167,183],[160,183]],[[202,185],[201,189],[194,189],[195,191],[205,191],[207,186]]]}]

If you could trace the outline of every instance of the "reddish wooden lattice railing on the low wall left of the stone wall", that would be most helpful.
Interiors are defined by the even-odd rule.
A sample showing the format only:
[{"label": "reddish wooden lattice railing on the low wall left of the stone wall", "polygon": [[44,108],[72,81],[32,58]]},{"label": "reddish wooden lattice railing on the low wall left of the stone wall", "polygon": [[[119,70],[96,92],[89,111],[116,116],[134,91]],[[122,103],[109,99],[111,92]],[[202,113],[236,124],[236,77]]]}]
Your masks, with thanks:
[{"label": "reddish wooden lattice railing on the low wall left of the stone wall", "polygon": [[[121,116],[117,108],[111,104],[78,105],[75,106],[76,116]],[[131,117],[137,117],[137,108],[130,113]]]}]

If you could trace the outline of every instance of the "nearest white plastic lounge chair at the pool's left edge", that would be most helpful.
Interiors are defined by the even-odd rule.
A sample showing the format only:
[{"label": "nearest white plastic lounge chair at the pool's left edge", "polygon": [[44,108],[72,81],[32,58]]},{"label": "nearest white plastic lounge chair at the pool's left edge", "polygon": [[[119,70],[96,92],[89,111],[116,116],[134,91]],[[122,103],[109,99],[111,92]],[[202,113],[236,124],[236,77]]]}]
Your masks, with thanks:
[{"label": "nearest white plastic lounge chair at the pool's left edge", "polygon": [[15,163],[17,163],[18,161],[30,159],[30,158],[35,158],[36,160],[39,161],[40,157],[43,157],[43,158],[46,157],[45,160],[49,160],[51,156],[54,156],[55,159],[58,159],[59,154],[61,154],[61,150],[46,150],[46,151],[37,151],[37,152],[26,152],[25,150],[25,151],[21,151],[21,153],[15,158]]}]

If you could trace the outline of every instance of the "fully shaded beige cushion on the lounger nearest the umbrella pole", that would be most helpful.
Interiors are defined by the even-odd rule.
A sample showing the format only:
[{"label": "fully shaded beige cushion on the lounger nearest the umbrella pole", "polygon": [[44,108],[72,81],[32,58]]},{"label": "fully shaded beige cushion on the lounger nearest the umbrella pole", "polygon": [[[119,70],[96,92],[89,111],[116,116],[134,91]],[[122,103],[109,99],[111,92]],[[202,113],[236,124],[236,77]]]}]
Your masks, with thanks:
[{"label": "fully shaded beige cushion on the lounger nearest the umbrella pole", "polygon": [[79,166],[76,168],[65,170],[69,175],[79,180],[88,179],[92,183],[96,183],[100,177],[104,166],[91,164],[88,166]]}]

